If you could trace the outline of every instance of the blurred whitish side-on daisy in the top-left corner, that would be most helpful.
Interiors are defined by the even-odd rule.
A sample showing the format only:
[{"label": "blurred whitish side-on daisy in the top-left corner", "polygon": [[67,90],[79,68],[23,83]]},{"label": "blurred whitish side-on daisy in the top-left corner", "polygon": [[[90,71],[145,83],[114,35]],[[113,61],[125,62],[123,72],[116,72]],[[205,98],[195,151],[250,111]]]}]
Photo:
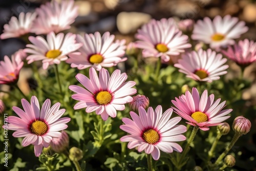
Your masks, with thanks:
[{"label": "blurred whitish side-on daisy in the top-left corner", "polygon": [[4,25],[4,33],[0,35],[1,39],[20,37],[31,31],[32,23],[36,18],[36,13],[21,12],[18,19],[15,16],[11,17],[9,24]]}]

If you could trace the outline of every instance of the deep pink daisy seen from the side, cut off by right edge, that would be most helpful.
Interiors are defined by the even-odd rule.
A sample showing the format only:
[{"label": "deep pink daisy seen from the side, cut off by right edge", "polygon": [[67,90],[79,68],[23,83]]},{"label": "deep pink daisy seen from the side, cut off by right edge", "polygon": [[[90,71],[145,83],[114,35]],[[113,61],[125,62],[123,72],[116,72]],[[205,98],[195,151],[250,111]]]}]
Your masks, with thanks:
[{"label": "deep pink daisy seen from the side, cut off by right edge", "polygon": [[223,50],[222,53],[238,65],[248,66],[256,61],[256,43],[248,39],[240,40],[233,47],[228,46],[227,51]]}]

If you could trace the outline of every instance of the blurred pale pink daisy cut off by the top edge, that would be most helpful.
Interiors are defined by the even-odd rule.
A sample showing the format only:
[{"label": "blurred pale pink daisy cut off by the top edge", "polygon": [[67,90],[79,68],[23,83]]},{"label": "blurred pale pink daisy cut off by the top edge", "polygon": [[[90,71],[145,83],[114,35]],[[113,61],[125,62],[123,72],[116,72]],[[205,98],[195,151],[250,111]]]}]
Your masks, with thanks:
[{"label": "blurred pale pink daisy cut off by the top edge", "polygon": [[78,16],[78,7],[74,7],[74,1],[48,2],[36,8],[36,18],[31,31],[35,34],[59,33],[62,30],[70,29]]}]

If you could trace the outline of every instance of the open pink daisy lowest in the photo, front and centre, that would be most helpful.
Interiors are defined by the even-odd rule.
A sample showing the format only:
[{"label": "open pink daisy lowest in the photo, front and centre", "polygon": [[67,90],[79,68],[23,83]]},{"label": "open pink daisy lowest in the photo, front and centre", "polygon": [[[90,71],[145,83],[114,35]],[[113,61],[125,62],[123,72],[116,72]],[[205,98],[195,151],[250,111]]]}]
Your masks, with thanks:
[{"label": "open pink daisy lowest in the photo, front and centre", "polygon": [[176,143],[184,141],[186,137],[181,135],[186,132],[186,126],[177,125],[181,117],[172,116],[173,109],[168,109],[162,114],[162,106],[158,105],[155,112],[152,107],[147,112],[144,108],[139,108],[139,116],[130,112],[132,119],[123,118],[124,125],[120,129],[131,134],[125,135],[120,140],[129,142],[128,148],[138,146],[138,151],[145,150],[146,154],[151,154],[154,160],[160,157],[160,150],[165,153],[173,151],[182,152],[182,147]]}]

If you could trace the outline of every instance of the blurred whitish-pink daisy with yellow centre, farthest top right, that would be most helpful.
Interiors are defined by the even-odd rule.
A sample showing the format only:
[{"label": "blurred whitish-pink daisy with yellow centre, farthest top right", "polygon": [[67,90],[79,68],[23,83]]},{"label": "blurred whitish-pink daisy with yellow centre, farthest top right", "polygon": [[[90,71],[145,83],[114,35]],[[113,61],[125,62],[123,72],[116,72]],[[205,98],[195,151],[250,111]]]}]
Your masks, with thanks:
[{"label": "blurred whitish-pink daisy with yellow centre, farthest top right", "polygon": [[194,25],[191,38],[201,40],[206,44],[210,44],[211,48],[219,50],[221,47],[233,45],[235,38],[239,38],[241,34],[247,32],[248,27],[245,22],[238,22],[237,17],[230,15],[216,16],[213,21],[209,17],[198,20]]}]

